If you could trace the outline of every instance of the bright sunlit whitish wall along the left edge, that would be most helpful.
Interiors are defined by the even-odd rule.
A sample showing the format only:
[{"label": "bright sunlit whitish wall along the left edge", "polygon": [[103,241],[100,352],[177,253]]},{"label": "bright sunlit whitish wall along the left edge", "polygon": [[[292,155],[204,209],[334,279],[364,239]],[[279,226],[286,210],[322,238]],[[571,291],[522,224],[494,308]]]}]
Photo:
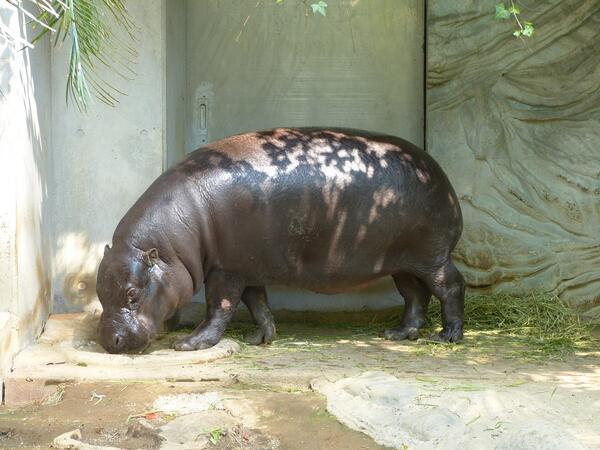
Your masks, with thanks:
[{"label": "bright sunlit whitish wall along the left edge", "polygon": [[[6,2],[0,21],[26,32]],[[50,52],[19,50],[0,39],[0,379],[50,310]]]}]

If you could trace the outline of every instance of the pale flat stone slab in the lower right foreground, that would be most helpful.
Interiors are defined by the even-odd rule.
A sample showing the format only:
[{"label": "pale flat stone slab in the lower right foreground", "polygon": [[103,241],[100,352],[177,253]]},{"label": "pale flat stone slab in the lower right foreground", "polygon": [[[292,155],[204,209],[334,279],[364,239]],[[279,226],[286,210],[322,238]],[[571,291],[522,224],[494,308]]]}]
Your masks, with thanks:
[{"label": "pale flat stone slab in the lower right foreground", "polygon": [[582,443],[584,437],[599,442],[597,429],[582,427],[577,414],[552,402],[552,395],[423,381],[372,371],[312,386],[341,423],[394,449],[597,448]]}]

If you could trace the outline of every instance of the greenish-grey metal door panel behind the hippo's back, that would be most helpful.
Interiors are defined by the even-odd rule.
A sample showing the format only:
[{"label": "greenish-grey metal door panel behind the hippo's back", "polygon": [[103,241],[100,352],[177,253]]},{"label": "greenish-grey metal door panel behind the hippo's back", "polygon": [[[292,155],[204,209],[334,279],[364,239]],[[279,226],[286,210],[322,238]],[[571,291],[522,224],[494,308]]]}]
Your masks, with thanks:
[{"label": "greenish-grey metal door panel behind the hippo's back", "polygon": [[350,126],[423,143],[422,0],[187,2],[187,140]]}]

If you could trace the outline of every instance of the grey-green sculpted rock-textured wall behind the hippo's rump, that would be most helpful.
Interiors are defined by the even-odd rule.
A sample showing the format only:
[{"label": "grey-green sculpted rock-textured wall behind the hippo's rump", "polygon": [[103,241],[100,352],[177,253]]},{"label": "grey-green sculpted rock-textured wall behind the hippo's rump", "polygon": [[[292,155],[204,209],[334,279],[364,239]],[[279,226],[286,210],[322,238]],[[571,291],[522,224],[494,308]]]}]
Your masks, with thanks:
[{"label": "grey-green sculpted rock-textured wall behind the hippo's rump", "polygon": [[428,3],[427,147],[461,200],[471,288],[559,294],[600,321],[600,1]]}]

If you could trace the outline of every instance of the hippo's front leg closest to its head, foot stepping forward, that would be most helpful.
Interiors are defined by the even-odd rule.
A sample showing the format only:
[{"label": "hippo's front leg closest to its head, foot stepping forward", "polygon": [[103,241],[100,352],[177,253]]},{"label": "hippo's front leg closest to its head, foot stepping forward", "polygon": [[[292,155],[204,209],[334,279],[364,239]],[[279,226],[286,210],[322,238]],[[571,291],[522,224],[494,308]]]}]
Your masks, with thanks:
[{"label": "hippo's front leg closest to its head, foot stepping forward", "polygon": [[211,272],[206,279],[206,317],[188,336],[177,339],[175,350],[210,348],[223,337],[227,324],[240,303],[245,284],[227,272]]}]

